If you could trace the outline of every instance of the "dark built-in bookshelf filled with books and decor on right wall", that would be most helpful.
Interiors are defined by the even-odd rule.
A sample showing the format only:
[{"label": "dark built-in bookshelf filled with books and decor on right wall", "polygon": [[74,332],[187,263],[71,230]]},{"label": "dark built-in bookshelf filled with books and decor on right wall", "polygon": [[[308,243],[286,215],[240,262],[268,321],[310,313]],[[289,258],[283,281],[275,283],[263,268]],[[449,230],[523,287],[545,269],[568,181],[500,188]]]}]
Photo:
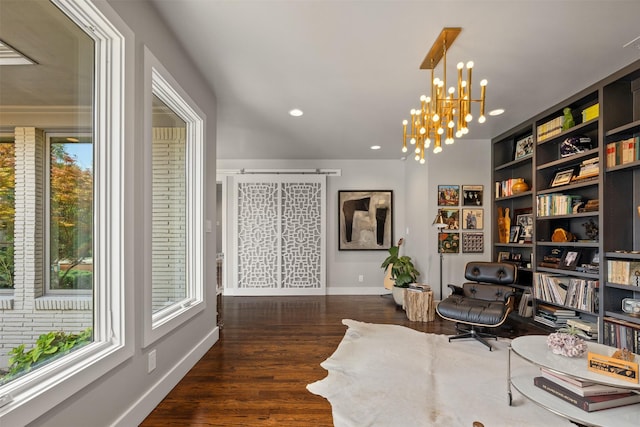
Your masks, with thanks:
[{"label": "dark built-in bookshelf filled with books and decor on right wall", "polygon": [[[622,302],[640,300],[640,286],[611,274],[640,266],[640,61],[499,135],[492,146],[494,260],[509,254],[518,263],[534,315],[536,304],[574,311],[598,326],[600,342],[626,346],[622,341],[636,337],[637,350],[640,316],[624,312]],[[519,178],[529,189],[505,192]],[[498,211],[506,209],[511,226],[531,214],[530,239],[500,241]]]}]

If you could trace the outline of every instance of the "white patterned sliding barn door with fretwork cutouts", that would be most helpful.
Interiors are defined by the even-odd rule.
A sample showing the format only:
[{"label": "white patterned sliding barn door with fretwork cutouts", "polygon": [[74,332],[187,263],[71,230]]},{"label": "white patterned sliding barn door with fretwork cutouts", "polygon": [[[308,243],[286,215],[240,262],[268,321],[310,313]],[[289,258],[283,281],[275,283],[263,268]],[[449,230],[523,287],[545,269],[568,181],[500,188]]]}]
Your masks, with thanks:
[{"label": "white patterned sliding barn door with fretwork cutouts", "polygon": [[229,294],[325,293],[325,176],[234,179],[234,273]]}]

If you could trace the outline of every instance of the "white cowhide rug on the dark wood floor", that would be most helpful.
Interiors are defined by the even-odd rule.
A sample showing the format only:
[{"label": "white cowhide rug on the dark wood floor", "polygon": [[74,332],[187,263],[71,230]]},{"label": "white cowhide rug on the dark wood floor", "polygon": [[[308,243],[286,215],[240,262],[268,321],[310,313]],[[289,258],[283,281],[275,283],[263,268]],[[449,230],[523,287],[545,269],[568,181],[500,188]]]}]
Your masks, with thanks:
[{"label": "white cowhide rug on the dark wood floor", "polygon": [[[307,389],[326,398],[336,427],[571,426],[513,390],[508,404],[509,340],[448,342],[399,325],[343,320],[348,329]],[[524,365],[512,358],[512,368]]]}]

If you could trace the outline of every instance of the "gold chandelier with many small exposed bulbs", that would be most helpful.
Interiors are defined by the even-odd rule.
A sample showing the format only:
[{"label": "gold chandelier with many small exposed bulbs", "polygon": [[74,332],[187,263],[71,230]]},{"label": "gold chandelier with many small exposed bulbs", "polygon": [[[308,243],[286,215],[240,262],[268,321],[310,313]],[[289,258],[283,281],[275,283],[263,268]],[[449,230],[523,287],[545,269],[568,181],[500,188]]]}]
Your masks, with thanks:
[{"label": "gold chandelier with many small exposed bulbs", "polygon": [[[431,96],[420,97],[420,107],[411,110],[411,128],[409,122],[402,122],[402,152],[406,153],[407,140],[415,145],[415,159],[424,163],[424,152],[433,142],[433,152],[442,151],[442,140],[445,144],[453,144],[454,135],[460,138],[469,133],[467,124],[473,120],[471,104],[480,103],[479,123],[485,122],[484,100],[487,80],[480,82],[480,99],[471,97],[471,70],[473,62],[467,62],[467,79],[464,80],[464,63],[458,63],[458,81],[456,88],[447,89],[447,49],[462,31],[460,27],[443,28],[438,39],[420,65],[421,70],[431,70]],[[442,79],[434,78],[434,69],[443,60]]]}]

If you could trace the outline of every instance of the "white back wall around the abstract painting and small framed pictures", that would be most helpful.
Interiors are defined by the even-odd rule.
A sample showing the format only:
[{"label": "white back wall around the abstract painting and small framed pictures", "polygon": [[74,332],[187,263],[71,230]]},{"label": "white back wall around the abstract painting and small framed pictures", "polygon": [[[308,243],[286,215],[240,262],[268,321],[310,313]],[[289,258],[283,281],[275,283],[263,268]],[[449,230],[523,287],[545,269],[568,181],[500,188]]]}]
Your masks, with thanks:
[{"label": "white back wall around the abstract painting and small framed pictures", "polygon": [[[327,178],[327,293],[381,294],[383,271],[380,264],[386,251],[338,250],[338,190],[393,190],[394,241],[405,238],[402,253],[410,255],[421,272],[420,281],[439,294],[437,229],[431,225],[437,212],[439,184],[484,185],[485,252],[445,254],[443,293],[447,283],[464,279],[470,260],[491,256],[491,142],[457,141],[442,153],[428,154],[420,165],[413,160],[218,160],[219,170],[239,169],[340,169],[342,175]],[[400,147],[398,147],[399,151]],[[462,208],[462,206],[460,206]],[[226,224],[231,236],[231,224]],[[364,281],[358,282],[363,275]],[[439,295],[438,295],[439,296]]]}]

